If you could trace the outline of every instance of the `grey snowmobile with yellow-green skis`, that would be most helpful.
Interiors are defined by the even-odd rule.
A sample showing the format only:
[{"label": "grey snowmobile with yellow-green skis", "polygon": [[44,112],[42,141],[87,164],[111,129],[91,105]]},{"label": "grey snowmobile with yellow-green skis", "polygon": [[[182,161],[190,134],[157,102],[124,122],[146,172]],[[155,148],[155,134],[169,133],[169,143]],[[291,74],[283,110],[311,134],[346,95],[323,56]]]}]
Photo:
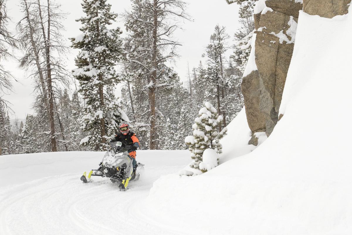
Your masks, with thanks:
[{"label": "grey snowmobile with yellow-green skis", "polygon": [[[110,142],[111,149],[106,151],[100,167],[97,170],[91,170],[81,176],[83,183],[91,182],[91,176],[108,177],[113,183],[120,183],[120,190],[127,190],[125,185],[129,181],[139,180],[140,174],[144,171],[144,164],[137,162],[136,171],[133,171],[133,164],[128,151],[132,150],[132,146],[126,145],[126,142]],[[88,178],[88,179],[87,179]]]}]

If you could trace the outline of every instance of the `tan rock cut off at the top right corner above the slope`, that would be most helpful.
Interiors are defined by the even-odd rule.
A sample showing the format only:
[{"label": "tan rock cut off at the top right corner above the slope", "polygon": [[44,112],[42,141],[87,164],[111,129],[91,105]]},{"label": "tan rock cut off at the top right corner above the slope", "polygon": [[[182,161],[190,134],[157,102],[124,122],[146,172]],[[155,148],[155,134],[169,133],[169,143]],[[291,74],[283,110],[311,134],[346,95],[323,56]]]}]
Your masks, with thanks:
[{"label": "tan rock cut off at the top right corner above the slope", "polygon": [[348,13],[351,0],[303,0],[303,11],[310,15],[333,18]]}]

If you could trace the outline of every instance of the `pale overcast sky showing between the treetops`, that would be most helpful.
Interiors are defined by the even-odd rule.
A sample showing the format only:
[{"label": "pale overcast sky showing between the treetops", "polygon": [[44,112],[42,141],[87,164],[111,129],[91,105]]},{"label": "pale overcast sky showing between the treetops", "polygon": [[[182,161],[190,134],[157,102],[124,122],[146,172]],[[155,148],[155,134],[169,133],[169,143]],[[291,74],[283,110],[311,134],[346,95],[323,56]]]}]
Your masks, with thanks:
[{"label": "pale overcast sky showing between the treetops", "polygon": [[[209,37],[212,34],[216,24],[226,27],[227,33],[232,37],[233,33],[238,28],[238,6],[236,4],[227,5],[225,0],[184,0],[189,3],[188,13],[191,15],[193,22],[185,22],[183,24],[183,31],[177,31],[175,36],[179,38],[183,44],[179,48],[180,59],[173,65],[175,71],[178,72],[181,80],[184,80],[187,74],[187,63],[189,67],[197,67],[201,55],[205,52],[205,47],[209,42]],[[81,2],[82,0],[56,0],[62,5],[62,11],[67,12],[68,16],[64,20],[65,38],[75,37],[80,34],[80,23],[75,22],[75,19],[83,16]],[[108,0],[112,4],[112,10],[116,13],[128,10],[130,7],[129,0]],[[10,0],[7,2],[8,15],[13,18],[13,22],[17,23],[22,19],[22,13],[19,7],[20,0]],[[123,22],[118,22],[118,26],[124,30]],[[9,27],[12,28],[12,27]],[[14,30],[14,29],[13,29]],[[69,40],[67,40],[69,45]],[[232,38],[229,40],[232,45]],[[230,55],[232,50],[228,51]],[[68,55],[67,69],[71,71],[75,68],[74,58],[77,55],[77,50],[72,50]],[[15,61],[4,62],[6,68],[13,72],[15,78],[19,81],[13,82],[14,92],[5,95],[3,98],[12,103],[11,108],[19,119],[25,119],[27,114],[32,114],[31,105],[33,102],[33,85],[30,79],[26,79],[25,71],[17,67]],[[14,118],[14,115],[12,115]]]}]

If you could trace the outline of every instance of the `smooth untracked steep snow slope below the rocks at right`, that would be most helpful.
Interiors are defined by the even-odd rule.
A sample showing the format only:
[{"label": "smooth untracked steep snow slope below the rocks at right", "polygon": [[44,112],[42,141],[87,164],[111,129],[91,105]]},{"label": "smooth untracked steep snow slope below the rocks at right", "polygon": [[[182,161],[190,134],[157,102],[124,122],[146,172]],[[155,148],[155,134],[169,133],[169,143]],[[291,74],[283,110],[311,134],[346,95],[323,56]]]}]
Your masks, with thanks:
[{"label": "smooth untracked steep snow slope below the rocks at right", "polygon": [[203,175],[162,176],[143,207],[151,221],[167,210],[159,221],[184,234],[352,233],[351,13],[300,12],[274,132]]}]

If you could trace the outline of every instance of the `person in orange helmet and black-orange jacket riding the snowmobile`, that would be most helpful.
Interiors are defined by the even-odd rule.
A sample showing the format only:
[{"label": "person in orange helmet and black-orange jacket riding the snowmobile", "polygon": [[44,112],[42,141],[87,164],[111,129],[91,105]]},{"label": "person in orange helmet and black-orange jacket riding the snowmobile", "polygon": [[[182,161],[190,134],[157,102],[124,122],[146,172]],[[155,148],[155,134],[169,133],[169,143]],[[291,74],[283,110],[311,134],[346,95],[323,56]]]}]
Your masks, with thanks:
[{"label": "person in orange helmet and black-orange jacket riding the snowmobile", "polygon": [[128,151],[130,157],[132,159],[133,164],[133,172],[136,172],[137,168],[137,161],[136,161],[136,150],[139,148],[139,140],[133,132],[130,131],[130,126],[127,122],[123,121],[120,123],[120,133],[115,135],[115,138],[112,139],[110,142],[116,141],[126,141],[126,145],[132,146],[132,149]]}]

